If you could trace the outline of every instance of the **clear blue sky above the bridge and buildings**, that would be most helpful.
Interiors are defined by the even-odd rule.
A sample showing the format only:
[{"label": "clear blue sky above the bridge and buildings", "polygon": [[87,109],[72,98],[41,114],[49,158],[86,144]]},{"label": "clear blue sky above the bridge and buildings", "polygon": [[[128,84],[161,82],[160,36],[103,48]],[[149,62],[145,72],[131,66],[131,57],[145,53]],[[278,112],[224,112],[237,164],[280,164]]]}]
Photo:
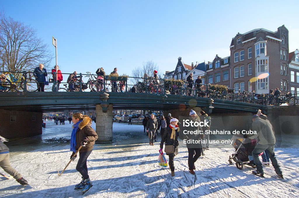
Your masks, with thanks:
[{"label": "clear blue sky above the bridge and buildings", "polygon": [[[298,1],[16,1],[0,0],[7,16],[37,30],[62,73],[103,67],[131,74],[147,60],[162,72],[230,55],[231,39],[257,28],[289,30],[299,48]],[[51,65],[55,65],[55,59]]]}]

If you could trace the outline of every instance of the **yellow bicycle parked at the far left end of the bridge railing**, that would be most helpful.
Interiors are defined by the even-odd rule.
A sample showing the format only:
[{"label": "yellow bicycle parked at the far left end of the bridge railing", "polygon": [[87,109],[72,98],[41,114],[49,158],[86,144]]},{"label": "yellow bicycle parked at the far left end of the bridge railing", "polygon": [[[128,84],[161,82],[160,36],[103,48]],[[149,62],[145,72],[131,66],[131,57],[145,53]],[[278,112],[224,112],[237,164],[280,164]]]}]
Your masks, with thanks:
[{"label": "yellow bicycle parked at the far left end of the bridge railing", "polygon": [[[4,74],[4,75],[3,75]],[[0,86],[4,89],[1,89],[4,92],[8,92],[10,90],[15,91],[23,91],[24,89],[24,81],[25,77],[20,76],[19,78],[15,78],[11,72],[3,72],[1,77],[1,84]],[[30,75],[30,71],[28,73],[29,78],[26,79],[26,88],[27,91],[37,91],[38,88],[38,82],[35,79],[32,79],[32,76]]]}]

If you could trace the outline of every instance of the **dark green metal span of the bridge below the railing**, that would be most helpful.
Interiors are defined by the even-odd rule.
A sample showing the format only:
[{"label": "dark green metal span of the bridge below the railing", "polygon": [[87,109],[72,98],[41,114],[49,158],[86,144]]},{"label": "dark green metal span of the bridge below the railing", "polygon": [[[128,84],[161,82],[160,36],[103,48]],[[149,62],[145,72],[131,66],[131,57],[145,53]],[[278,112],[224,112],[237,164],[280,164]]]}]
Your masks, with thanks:
[{"label": "dark green metal span of the bridge below the railing", "polygon": [[215,112],[253,112],[264,105],[222,99],[155,93],[120,92],[1,92],[0,108],[33,112],[95,110],[95,105],[113,104],[113,109],[171,110],[203,107]]}]

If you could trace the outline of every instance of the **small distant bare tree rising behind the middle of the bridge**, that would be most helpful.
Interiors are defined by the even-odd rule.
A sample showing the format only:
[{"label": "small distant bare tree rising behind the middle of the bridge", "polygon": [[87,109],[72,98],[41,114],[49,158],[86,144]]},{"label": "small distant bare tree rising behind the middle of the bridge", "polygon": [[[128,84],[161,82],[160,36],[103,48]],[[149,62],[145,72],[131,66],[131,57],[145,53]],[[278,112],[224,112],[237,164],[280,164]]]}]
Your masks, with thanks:
[{"label": "small distant bare tree rising behind the middle of the bridge", "polygon": [[158,71],[158,76],[161,76],[159,67],[155,62],[153,62],[152,60],[143,62],[141,67],[135,67],[135,69],[132,70],[132,77],[137,78],[130,78],[130,82],[135,85],[138,81],[142,81],[142,79],[140,78],[142,78],[144,74],[147,74],[148,77],[153,77],[154,70]]}]

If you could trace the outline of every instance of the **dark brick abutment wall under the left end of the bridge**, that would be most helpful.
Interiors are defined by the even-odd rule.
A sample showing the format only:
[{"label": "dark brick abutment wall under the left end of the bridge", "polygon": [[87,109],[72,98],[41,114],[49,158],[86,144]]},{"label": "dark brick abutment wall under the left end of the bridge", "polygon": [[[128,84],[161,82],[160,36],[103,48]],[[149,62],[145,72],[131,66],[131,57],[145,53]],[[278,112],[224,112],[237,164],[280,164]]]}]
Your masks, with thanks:
[{"label": "dark brick abutment wall under the left end of the bridge", "polygon": [[42,133],[42,113],[0,109],[0,120],[0,135],[9,140]]}]

